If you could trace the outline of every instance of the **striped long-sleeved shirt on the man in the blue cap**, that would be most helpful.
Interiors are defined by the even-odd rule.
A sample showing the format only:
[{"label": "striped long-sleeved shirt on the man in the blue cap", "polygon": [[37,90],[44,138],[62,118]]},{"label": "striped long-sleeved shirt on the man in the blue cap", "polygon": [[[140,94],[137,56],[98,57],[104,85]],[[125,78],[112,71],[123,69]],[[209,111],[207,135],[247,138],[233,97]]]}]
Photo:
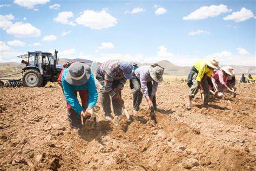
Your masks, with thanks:
[{"label": "striped long-sleeved shirt on the man in the blue cap", "polygon": [[99,67],[100,75],[104,77],[104,88],[111,97],[116,95],[116,92],[112,89],[113,80],[120,80],[118,88],[123,90],[126,79],[124,76],[118,74],[118,68],[122,60],[109,60]]}]

